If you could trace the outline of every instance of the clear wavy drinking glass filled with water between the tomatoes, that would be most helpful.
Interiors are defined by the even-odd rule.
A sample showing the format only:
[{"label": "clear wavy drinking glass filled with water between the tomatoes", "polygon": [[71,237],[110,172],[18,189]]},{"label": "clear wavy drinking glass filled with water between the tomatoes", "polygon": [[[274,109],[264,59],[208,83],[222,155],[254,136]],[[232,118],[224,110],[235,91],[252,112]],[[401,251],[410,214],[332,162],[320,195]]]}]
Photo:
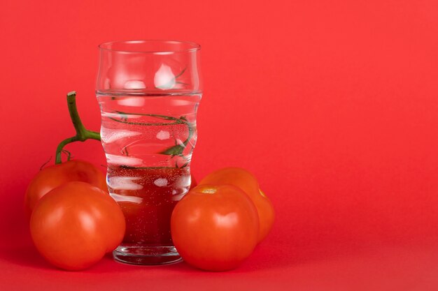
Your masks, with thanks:
[{"label": "clear wavy drinking glass filled with water between the tomatoes", "polygon": [[116,41],[99,45],[96,95],[110,195],[127,229],[115,260],[181,260],[170,234],[175,204],[191,184],[202,96],[196,43]]}]

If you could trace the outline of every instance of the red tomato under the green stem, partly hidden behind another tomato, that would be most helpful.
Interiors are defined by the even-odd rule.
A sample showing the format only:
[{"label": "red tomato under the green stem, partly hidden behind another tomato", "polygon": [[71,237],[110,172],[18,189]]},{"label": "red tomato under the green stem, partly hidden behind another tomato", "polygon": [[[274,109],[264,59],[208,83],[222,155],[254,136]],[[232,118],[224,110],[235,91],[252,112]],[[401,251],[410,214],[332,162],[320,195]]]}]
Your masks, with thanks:
[{"label": "red tomato under the green stem, partly hidden behind another tomato", "polygon": [[83,181],[108,192],[105,175],[91,163],[71,160],[51,165],[38,172],[27,187],[24,197],[27,214],[31,215],[36,202],[46,193],[69,181]]}]

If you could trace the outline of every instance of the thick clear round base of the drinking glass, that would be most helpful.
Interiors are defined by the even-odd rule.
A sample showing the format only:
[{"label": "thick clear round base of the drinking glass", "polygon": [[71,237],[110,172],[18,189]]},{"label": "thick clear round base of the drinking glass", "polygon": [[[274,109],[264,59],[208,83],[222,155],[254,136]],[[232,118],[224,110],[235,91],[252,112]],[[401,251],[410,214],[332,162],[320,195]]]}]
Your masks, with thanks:
[{"label": "thick clear round base of the drinking glass", "polygon": [[121,244],[113,251],[116,261],[127,264],[171,264],[183,259],[174,246],[142,246]]}]

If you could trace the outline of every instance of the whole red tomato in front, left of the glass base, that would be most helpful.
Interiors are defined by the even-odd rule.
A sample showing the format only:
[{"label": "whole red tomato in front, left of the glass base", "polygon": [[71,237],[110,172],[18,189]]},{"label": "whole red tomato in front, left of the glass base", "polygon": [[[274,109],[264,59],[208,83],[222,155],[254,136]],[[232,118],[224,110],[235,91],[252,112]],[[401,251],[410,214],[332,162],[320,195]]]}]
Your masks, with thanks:
[{"label": "whole red tomato in front, left of the glass base", "polygon": [[31,215],[31,237],[38,251],[67,270],[90,267],[113,251],[125,234],[125,217],[101,189],[73,181],[41,198]]}]

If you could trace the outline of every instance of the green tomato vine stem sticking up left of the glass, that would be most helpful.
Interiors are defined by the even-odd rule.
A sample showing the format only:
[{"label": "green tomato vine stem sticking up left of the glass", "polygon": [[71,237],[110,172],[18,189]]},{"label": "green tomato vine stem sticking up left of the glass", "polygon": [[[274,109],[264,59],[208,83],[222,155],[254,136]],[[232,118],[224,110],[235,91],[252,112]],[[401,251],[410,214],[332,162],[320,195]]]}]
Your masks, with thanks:
[{"label": "green tomato vine stem sticking up left of the glass", "polygon": [[[66,138],[58,144],[56,149],[55,164],[62,163],[62,153],[65,151],[66,144],[71,142],[85,142],[85,140],[99,140],[100,134],[96,131],[87,130],[80,120],[78,108],[76,107],[76,91],[71,91],[67,94],[67,104],[69,106],[69,113],[73,126],[76,130],[76,135]],[[70,156],[67,157],[70,160]]]}]

